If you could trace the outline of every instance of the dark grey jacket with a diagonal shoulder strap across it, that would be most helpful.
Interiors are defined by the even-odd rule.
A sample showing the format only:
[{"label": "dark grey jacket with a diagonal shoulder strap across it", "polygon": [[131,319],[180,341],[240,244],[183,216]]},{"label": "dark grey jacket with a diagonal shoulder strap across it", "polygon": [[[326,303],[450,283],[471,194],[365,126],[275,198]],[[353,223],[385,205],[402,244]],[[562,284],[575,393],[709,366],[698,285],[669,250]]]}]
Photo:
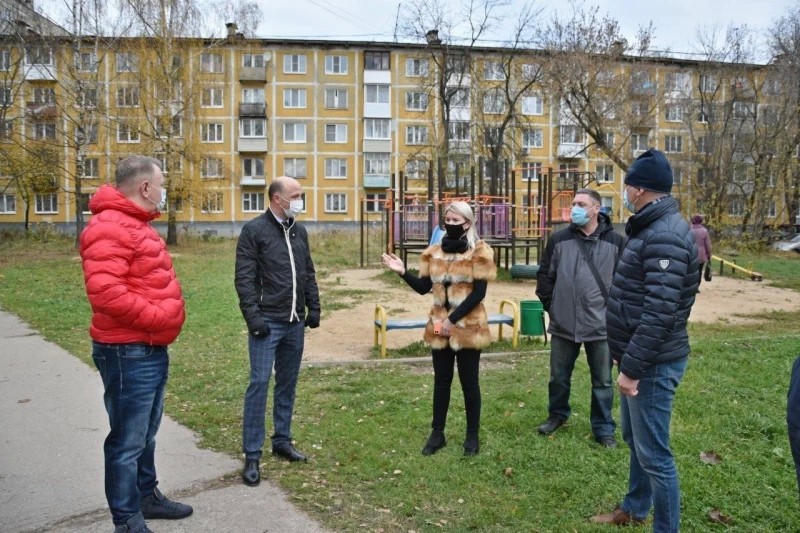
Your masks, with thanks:
[{"label": "dark grey jacket with a diagonal shoulder strap across it", "polygon": [[586,264],[581,242],[608,291],[625,239],[614,231],[608,216],[600,213],[591,235],[570,224],[550,237],[539,261],[536,296],[550,314],[551,335],[572,342],[605,340],[606,300]]}]

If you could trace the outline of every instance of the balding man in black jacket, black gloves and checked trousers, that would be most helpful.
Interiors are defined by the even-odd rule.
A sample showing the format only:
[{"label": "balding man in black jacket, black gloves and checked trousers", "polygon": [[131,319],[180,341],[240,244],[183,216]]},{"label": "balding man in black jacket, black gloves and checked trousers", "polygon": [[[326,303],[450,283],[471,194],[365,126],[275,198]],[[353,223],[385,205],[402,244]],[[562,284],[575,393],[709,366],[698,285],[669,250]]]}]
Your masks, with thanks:
[{"label": "balding man in black jacket, black gloves and checked trousers", "polygon": [[236,292],[249,331],[250,384],[244,398],[242,479],[250,486],[261,481],[259,460],[273,365],[272,455],[288,461],[306,460],[292,445],[292,411],[304,327],[319,327],[320,320],[308,234],[295,222],[303,210],[303,190],[297,180],[282,176],[270,184],[268,194],[269,209],[245,224],[236,245]]}]

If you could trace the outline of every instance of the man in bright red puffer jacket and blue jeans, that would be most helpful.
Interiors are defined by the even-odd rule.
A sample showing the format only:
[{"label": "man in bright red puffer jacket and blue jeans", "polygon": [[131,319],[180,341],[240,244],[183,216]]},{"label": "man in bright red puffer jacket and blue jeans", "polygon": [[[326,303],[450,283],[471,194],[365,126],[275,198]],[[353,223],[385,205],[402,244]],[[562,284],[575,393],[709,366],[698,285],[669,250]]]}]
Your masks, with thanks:
[{"label": "man in bright red puffer jacket and blue jeans", "polygon": [[145,519],[192,514],[190,506],[168,500],[156,488],[155,437],[164,408],[167,345],[186,318],[172,260],[150,226],[165,200],[157,159],[123,159],[116,186],[103,185],[92,196],[93,216],[80,239],[92,306],[92,357],[111,426],[103,449],[115,532],[148,532]]}]

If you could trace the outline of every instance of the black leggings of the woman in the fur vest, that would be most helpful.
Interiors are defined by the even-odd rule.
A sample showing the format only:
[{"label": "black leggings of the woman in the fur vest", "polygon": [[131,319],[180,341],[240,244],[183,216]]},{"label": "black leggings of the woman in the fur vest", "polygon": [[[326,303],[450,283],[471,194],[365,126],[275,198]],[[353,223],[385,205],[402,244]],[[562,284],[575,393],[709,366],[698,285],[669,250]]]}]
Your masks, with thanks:
[{"label": "black leggings of the woman in the fur vest", "polygon": [[478,383],[480,350],[462,348],[454,352],[449,346],[431,350],[433,357],[433,422],[434,430],[444,431],[450,407],[450,386],[453,383],[453,363],[458,360],[458,378],[464,392],[467,412],[467,434],[478,434],[481,420],[481,386]]}]

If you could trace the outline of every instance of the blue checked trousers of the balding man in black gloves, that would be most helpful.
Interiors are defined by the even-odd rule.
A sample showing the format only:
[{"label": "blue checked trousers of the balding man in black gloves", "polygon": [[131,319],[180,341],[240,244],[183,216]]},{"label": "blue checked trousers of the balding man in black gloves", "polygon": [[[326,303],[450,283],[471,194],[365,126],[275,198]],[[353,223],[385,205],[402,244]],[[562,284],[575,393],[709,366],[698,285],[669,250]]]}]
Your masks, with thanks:
[{"label": "blue checked trousers of the balding man in black gloves", "polygon": [[303,357],[305,324],[266,320],[269,333],[249,336],[250,385],[244,396],[242,451],[247,459],[260,459],[264,446],[267,410],[267,389],[272,367],[275,367],[275,389],[272,395],[272,421],[275,433],[272,445],[292,442],[292,411],[297,377]]}]

